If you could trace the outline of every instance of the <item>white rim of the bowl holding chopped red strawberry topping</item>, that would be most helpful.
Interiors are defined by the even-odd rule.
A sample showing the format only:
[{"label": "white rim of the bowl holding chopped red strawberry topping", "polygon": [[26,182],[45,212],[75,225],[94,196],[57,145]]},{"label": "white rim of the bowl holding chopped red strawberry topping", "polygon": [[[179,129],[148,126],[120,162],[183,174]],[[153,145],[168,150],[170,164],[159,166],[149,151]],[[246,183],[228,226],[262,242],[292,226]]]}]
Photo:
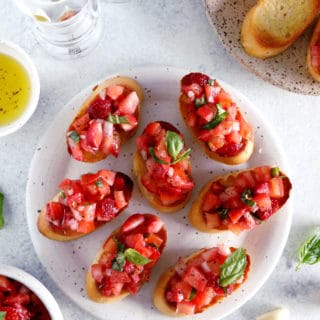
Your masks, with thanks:
[{"label": "white rim of the bowl holding chopped red strawberry topping", "polygon": [[47,308],[51,320],[63,320],[62,312],[53,295],[31,274],[13,266],[0,264],[0,275],[19,281],[36,294]]}]

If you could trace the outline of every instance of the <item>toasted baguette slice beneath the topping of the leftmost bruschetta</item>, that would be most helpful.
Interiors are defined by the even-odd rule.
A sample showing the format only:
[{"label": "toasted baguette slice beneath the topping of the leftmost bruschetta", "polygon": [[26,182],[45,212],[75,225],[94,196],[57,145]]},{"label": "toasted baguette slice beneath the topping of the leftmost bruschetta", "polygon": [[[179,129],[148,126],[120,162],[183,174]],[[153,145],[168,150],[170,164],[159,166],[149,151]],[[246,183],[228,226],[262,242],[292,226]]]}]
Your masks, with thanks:
[{"label": "toasted baguette slice beneath the topping of the leftmost bruschetta", "polygon": [[[107,171],[107,170],[100,170],[99,172],[111,172],[111,171]],[[99,173],[98,172],[98,173]],[[97,174],[88,174],[91,177],[94,175],[97,175],[97,179],[101,179],[101,177]],[[117,215],[119,215],[124,209],[126,209],[126,207],[128,206],[128,203],[131,199],[132,196],[132,191],[133,191],[133,181],[130,179],[130,177],[128,177],[127,175],[121,173],[121,172],[116,172],[115,173],[115,177],[119,177],[119,179],[121,179],[121,181],[123,181],[125,183],[125,187],[121,188],[121,191],[123,191],[123,197],[124,197],[124,201],[126,201],[125,204],[123,204],[122,208],[117,208],[117,212],[114,214],[114,217],[110,217],[109,220],[98,220],[97,217],[95,216],[94,221],[91,225],[91,228],[88,229],[86,232],[79,232],[77,230],[72,230],[70,228],[63,228],[63,226],[55,226],[52,221],[49,220],[48,215],[47,215],[47,210],[48,210],[48,205],[50,203],[57,203],[58,205],[62,205],[61,202],[61,192],[57,193],[52,200],[50,200],[48,202],[48,204],[41,210],[41,212],[39,213],[38,216],[38,220],[37,220],[37,227],[39,232],[44,235],[46,238],[51,239],[51,240],[56,240],[56,241],[71,241],[71,240],[75,240],[78,238],[81,238],[91,232],[94,232],[96,229],[100,228],[101,226],[103,226],[104,224],[108,223],[109,221],[113,220]],[[115,178],[116,179],[116,178]],[[69,180],[69,179],[66,179]],[[64,181],[66,181],[64,180]],[[72,181],[72,180],[70,180]],[[74,180],[75,181],[75,180]],[[78,180],[80,181],[80,180]],[[93,180],[92,178],[92,183],[95,184],[95,180]],[[112,186],[109,187],[112,191],[114,192]],[[120,189],[117,191],[120,191]],[[64,192],[64,191],[63,191]],[[83,190],[83,192],[85,194],[88,193],[88,190]],[[97,207],[101,208],[102,207],[102,202],[104,201],[105,198],[107,198],[108,196],[112,196],[111,194],[106,194],[105,196],[101,196],[101,199],[97,200],[96,202],[93,201],[93,199],[89,199],[87,198],[87,196],[84,196],[84,200],[83,203],[92,203],[95,204],[96,206],[96,210],[95,210],[95,215],[97,214]],[[66,196],[64,196],[63,198],[65,198]],[[68,197],[68,196],[67,196]],[[115,204],[116,205],[116,204]],[[81,206],[81,205],[79,205]],[[63,221],[64,219],[66,219],[66,215],[68,214],[70,207],[68,206],[67,203],[63,204],[63,216],[61,216],[61,221]]]}]

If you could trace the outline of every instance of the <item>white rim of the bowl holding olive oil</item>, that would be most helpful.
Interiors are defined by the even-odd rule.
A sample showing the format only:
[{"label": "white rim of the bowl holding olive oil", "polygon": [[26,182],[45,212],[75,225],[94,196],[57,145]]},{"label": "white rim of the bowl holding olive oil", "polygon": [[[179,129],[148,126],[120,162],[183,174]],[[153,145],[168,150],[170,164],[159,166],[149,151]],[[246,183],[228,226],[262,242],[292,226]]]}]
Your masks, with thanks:
[{"label": "white rim of the bowl holding olive oil", "polygon": [[30,119],[38,105],[40,95],[40,80],[38,71],[35,65],[33,64],[32,60],[19,46],[10,41],[0,40],[0,53],[10,56],[22,64],[29,76],[31,87],[31,95],[28,105],[26,106],[22,115],[19,118],[17,118],[14,122],[6,126],[0,126],[1,137],[15,132]]}]

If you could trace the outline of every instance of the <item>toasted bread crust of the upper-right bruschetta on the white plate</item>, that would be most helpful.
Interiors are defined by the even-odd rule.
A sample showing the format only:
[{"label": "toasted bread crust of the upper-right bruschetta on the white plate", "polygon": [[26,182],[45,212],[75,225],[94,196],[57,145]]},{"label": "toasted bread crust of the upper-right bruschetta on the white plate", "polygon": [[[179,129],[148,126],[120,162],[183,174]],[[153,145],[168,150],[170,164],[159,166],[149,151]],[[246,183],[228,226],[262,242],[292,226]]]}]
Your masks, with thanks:
[{"label": "toasted bread crust of the upper-right bruschetta on the white plate", "polygon": [[180,99],[179,99],[179,106],[180,106],[180,113],[182,115],[182,118],[183,118],[186,126],[190,129],[192,135],[198,140],[198,142],[200,143],[200,145],[202,146],[202,148],[204,149],[205,153],[208,155],[209,158],[211,158],[215,161],[218,161],[218,162],[229,164],[229,165],[237,165],[237,164],[241,164],[241,163],[244,163],[249,160],[249,158],[252,155],[253,149],[254,149],[253,135],[252,135],[251,139],[245,139],[244,146],[243,146],[242,150],[237,155],[232,156],[232,157],[221,157],[217,153],[211,151],[205,142],[199,140],[197,137],[196,130],[194,128],[191,128],[188,126],[188,123],[186,120],[187,115],[184,111],[184,108],[182,108],[182,104],[183,104],[183,102],[182,102],[182,95],[181,95]]}]

